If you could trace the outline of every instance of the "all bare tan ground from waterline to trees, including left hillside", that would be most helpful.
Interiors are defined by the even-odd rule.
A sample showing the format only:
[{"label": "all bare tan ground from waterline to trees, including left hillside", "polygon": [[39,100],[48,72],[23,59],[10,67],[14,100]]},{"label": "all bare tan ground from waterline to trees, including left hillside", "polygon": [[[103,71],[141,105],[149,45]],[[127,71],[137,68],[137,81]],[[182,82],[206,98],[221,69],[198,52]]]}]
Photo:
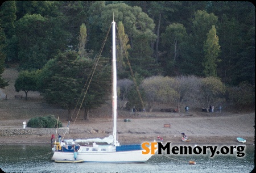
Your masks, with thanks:
[{"label": "all bare tan ground from waterline to trees, including left hillside", "polygon": [[[24,95],[23,91],[15,92],[15,79],[18,72],[15,69],[6,69],[2,74],[9,81],[9,86],[2,91],[7,100],[0,101],[0,128],[23,128],[22,122],[28,122],[32,117],[55,115],[67,127],[67,111],[58,107],[49,106],[39,92],[28,92],[28,99],[15,98],[15,95]],[[82,120],[83,112],[73,116],[69,125],[70,134],[61,134],[65,139],[76,138],[104,138],[112,134],[111,103],[106,103],[98,109],[90,111],[89,120]],[[183,110],[180,113],[167,112],[137,112],[134,115],[129,111],[118,112],[118,141],[121,144],[141,144],[146,141],[157,140],[163,137],[164,142],[184,144],[181,133],[184,132],[191,141],[189,144],[218,144],[240,145],[237,137],[246,139],[246,145],[254,144],[255,110],[242,111],[228,109],[224,106],[222,112],[201,112],[200,108],[189,109],[188,114]],[[183,111],[183,112],[182,112]],[[125,122],[124,119],[130,119]],[[170,124],[170,128],[164,127]],[[0,137],[0,144],[50,144],[51,134],[43,136],[12,136]]]}]

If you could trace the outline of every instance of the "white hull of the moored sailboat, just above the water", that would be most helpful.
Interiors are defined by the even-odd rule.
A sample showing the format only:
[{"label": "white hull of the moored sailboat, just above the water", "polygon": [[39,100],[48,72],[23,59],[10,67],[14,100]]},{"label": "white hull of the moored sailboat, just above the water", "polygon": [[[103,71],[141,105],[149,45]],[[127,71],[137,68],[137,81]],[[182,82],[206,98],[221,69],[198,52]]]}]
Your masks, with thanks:
[{"label": "white hull of the moored sailboat, just above the water", "polygon": [[[135,151],[115,151],[104,153],[78,153],[77,160],[84,162],[105,162],[105,163],[143,163],[146,162],[152,154],[142,154],[143,150]],[[72,160],[74,154],[69,152],[55,151],[52,160]]]}]

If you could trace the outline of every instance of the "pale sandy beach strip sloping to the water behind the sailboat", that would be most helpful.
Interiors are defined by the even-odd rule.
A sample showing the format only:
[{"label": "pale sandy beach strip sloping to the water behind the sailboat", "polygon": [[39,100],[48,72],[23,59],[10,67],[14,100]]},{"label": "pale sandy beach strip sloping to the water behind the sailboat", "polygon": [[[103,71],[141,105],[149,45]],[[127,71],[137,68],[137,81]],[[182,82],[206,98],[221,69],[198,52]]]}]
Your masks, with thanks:
[{"label": "pale sandy beach strip sloping to the water behind the sailboat", "polygon": [[[183,145],[181,133],[184,132],[191,141],[189,144],[240,145],[237,137],[246,139],[247,145],[254,144],[254,113],[238,115],[221,115],[208,113],[205,116],[173,115],[170,117],[135,117],[130,122],[118,119],[118,141],[121,144],[141,144],[157,141],[163,137],[164,142]],[[1,128],[16,128],[19,120],[1,121]],[[20,123],[20,122],[19,122]],[[171,124],[170,128],[164,124]],[[66,127],[67,123],[63,123]],[[70,134],[61,134],[65,139],[104,138],[112,134],[110,119],[79,120],[69,125]],[[22,125],[20,125],[22,128]],[[49,144],[51,134],[43,136],[0,137],[0,144]]]}]

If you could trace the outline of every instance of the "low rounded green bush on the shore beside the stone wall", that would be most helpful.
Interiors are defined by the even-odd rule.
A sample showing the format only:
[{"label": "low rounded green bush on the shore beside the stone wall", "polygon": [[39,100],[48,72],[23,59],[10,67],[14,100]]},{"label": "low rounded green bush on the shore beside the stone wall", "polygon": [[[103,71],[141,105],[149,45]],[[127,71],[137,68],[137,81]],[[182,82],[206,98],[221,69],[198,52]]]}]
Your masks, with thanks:
[{"label": "low rounded green bush on the shore beside the stone wall", "polygon": [[57,123],[57,119],[54,115],[48,115],[44,117],[34,117],[27,123],[27,127],[31,128],[58,128],[62,127],[61,121]]}]

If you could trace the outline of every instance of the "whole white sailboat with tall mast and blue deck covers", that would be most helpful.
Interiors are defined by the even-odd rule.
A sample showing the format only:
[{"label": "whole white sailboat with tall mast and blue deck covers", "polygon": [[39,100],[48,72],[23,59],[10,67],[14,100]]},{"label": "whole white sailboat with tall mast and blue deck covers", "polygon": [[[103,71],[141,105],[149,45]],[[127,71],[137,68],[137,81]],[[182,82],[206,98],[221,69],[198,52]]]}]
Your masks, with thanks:
[{"label": "whole white sailboat with tall mast and blue deck covers", "polygon": [[[143,163],[152,154],[143,154],[141,144],[120,145],[117,141],[117,67],[115,58],[115,22],[112,22],[113,43],[113,135],[106,138],[63,140],[64,144],[55,142],[52,160],[67,162],[78,160],[82,162],[99,163]],[[97,143],[96,143],[97,142]],[[148,143],[150,144],[150,143]],[[151,153],[151,147],[148,146]],[[155,149],[156,151],[157,149]],[[74,152],[75,151],[75,152]],[[154,153],[154,152],[153,152]]]}]

